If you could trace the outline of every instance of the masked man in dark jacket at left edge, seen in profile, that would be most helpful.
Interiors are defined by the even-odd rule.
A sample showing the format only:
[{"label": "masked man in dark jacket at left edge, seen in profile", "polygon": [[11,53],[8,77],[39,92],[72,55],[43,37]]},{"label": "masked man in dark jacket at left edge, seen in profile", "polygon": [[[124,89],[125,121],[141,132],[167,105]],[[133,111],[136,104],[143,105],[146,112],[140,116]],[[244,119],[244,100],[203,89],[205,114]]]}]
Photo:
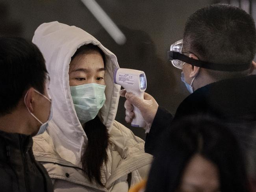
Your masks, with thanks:
[{"label": "masked man in dark jacket at left edge, seen in profile", "polygon": [[0,67],[0,190],[52,192],[50,177],[32,151],[32,137],[52,118],[43,55],[25,39],[0,37]]}]

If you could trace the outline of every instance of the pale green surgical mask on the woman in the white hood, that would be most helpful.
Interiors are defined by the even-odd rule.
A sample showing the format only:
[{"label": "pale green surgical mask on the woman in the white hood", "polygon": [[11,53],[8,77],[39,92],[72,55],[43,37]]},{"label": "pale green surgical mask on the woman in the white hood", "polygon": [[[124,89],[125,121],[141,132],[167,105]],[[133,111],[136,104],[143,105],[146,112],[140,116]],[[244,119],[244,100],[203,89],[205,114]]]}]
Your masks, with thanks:
[{"label": "pale green surgical mask on the woman in the white hood", "polygon": [[106,85],[88,83],[70,86],[70,93],[76,110],[76,115],[81,124],[96,117],[106,101]]}]

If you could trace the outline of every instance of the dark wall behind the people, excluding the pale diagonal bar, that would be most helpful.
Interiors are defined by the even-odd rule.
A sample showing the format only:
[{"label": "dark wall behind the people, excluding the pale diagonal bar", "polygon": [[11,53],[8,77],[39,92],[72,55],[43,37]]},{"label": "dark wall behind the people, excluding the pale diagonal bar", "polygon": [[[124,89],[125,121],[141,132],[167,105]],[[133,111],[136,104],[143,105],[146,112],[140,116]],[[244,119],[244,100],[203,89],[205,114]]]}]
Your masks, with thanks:
[{"label": "dark wall behind the people, excluding the pale diagonal bar", "polygon": [[[117,55],[121,68],[143,70],[147,92],[159,105],[175,113],[188,95],[180,81],[181,70],[167,61],[170,45],[182,39],[186,18],[198,8],[224,2],[244,8],[256,18],[254,0],[96,0],[126,36],[118,45],[80,0],[0,0],[0,35],[32,40],[36,28],[59,21],[74,25],[95,36]],[[116,120],[145,138],[145,131],[124,121],[124,98],[120,99]]]}]

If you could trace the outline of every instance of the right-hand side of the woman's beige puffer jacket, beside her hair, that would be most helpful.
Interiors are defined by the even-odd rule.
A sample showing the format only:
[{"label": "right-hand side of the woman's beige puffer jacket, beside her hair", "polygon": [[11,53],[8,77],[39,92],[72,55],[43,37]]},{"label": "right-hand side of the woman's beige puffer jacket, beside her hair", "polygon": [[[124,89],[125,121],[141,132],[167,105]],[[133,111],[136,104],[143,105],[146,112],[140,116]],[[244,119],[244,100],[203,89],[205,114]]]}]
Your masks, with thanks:
[{"label": "right-hand side of the woman's beige puffer jacket, beside her hair", "polygon": [[[123,184],[129,188],[142,178],[145,179],[152,162],[152,155],[144,151],[145,141],[117,121],[113,124],[109,141],[112,146],[112,173],[106,183],[106,188],[112,185],[114,190]],[[115,161],[118,162],[113,163]]]}]

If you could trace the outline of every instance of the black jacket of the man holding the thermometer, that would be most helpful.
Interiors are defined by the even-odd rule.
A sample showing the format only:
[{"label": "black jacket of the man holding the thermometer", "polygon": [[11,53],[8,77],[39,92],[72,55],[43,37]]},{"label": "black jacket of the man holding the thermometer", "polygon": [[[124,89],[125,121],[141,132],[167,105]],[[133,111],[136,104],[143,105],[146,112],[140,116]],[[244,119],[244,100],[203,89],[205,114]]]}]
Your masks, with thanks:
[{"label": "black jacket of the man holding the thermometer", "polygon": [[256,75],[217,81],[197,89],[180,103],[175,116],[159,107],[146,137],[145,152],[153,154],[159,136],[171,129],[173,121],[189,114],[213,115],[228,123],[254,124],[245,130],[245,135],[249,135],[256,124]]}]

